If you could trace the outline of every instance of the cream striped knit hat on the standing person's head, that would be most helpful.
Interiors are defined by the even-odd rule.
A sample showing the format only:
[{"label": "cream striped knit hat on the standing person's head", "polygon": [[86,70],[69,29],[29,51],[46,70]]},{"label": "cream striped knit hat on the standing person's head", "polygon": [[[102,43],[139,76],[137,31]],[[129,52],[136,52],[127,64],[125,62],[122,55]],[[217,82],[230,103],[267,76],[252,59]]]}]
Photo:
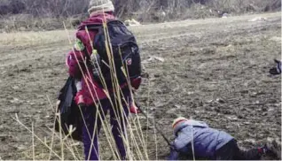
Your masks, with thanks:
[{"label": "cream striped knit hat on the standing person's head", "polygon": [[114,4],[111,0],[90,0],[88,12],[90,15],[98,12],[114,12]]}]

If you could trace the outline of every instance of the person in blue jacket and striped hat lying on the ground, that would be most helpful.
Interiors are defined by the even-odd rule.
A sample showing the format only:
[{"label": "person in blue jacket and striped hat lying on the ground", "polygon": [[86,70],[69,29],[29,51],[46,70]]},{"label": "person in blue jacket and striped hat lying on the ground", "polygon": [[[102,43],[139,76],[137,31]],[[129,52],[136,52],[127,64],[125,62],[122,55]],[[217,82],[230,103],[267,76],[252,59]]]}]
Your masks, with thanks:
[{"label": "person in blue jacket and striped hat lying on the ground", "polygon": [[176,139],[168,160],[177,160],[179,154],[195,159],[257,160],[270,152],[270,146],[239,149],[231,134],[209,127],[205,122],[178,118],[173,122]]}]

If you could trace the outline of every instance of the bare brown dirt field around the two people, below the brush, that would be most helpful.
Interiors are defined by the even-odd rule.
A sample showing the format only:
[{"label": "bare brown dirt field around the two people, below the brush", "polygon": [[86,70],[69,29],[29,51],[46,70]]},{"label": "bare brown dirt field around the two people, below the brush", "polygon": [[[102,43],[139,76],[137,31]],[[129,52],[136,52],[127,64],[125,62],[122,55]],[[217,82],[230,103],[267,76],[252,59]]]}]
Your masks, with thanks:
[{"label": "bare brown dirt field around the two people, below the brush", "polygon": [[[137,99],[164,134],[172,138],[172,120],[184,116],[229,132],[244,148],[267,137],[281,142],[281,78],[268,74],[272,59],[280,58],[280,14],[131,27],[150,74]],[[248,21],[255,17],[266,20]],[[25,125],[34,122],[35,134],[50,139],[51,104],[67,80],[65,56],[72,45],[65,31],[1,34],[0,42],[0,157],[32,159],[31,134],[12,118],[17,113]],[[151,56],[164,61],[147,61]],[[40,144],[35,142],[36,159],[46,159],[49,151]],[[161,136],[158,152],[152,137],[148,144],[150,158],[168,154]]]}]

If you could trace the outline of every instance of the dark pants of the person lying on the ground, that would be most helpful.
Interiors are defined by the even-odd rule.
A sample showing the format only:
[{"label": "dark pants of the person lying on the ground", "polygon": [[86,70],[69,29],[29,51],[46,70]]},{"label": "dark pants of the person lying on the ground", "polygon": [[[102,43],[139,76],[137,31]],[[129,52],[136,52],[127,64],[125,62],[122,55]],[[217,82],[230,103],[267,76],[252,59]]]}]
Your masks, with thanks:
[{"label": "dark pants of the person lying on the ground", "polygon": [[261,157],[258,149],[239,149],[236,140],[231,140],[215,152],[216,160],[258,160]]}]

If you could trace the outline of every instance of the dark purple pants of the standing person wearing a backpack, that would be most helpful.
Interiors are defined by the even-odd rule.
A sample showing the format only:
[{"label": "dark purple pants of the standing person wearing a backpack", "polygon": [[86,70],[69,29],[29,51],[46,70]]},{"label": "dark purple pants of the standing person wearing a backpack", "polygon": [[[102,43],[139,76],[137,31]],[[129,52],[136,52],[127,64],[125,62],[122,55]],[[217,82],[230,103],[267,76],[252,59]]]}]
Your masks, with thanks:
[{"label": "dark purple pants of the standing person wearing a backpack", "polygon": [[[125,96],[126,100],[129,100],[129,95]],[[113,99],[112,99],[113,100]],[[105,119],[107,112],[110,112],[110,123],[112,128],[112,134],[114,136],[114,141],[118,149],[118,154],[121,159],[126,157],[126,149],[122,140],[122,135],[126,133],[127,117],[129,115],[129,108],[123,103],[122,107],[117,105],[112,106],[109,100],[100,101],[102,107],[98,107],[101,118],[98,116],[97,108],[93,106],[88,106],[83,109],[83,117],[85,119],[86,125],[83,123],[82,127],[82,142],[84,145],[84,155],[85,160],[98,160],[98,134],[100,132],[102,123],[101,121]],[[114,103],[114,100],[113,100]],[[97,121],[97,122],[96,122]],[[94,129],[95,128],[95,129]],[[91,147],[91,138],[93,138],[93,146]]]}]

